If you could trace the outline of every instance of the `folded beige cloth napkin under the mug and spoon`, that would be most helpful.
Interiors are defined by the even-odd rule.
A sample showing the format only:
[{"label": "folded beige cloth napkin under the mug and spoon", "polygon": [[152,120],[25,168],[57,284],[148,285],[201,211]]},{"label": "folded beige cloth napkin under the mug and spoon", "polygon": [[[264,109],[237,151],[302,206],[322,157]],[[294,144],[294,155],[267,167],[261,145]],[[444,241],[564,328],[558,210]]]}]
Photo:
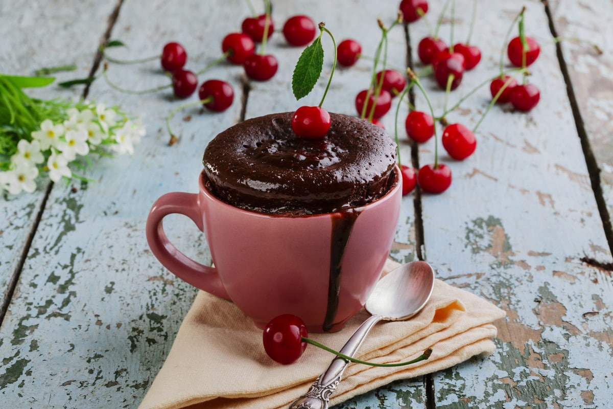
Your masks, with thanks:
[{"label": "folded beige cloth napkin under the mug and spoon", "polygon": [[[389,261],[384,272],[396,266]],[[362,310],[343,330],[309,337],[338,351],[367,317]],[[497,334],[492,321],[503,317],[500,308],[436,280],[422,312],[408,321],[376,324],[357,355],[367,361],[400,362],[432,348],[430,359],[405,367],[349,364],[330,405],[492,353]],[[298,361],[277,364],[264,351],[261,329],[231,302],[200,291],[139,409],[286,408],[308,391],[333,357],[308,345]]]}]

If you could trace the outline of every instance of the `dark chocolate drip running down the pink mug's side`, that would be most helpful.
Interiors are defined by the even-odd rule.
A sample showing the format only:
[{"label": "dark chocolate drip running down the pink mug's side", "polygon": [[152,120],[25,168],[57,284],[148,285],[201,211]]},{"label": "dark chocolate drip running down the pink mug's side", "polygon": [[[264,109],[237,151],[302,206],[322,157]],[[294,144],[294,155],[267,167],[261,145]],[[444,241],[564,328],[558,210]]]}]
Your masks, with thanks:
[{"label": "dark chocolate drip running down the pink mug's side", "polygon": [[343,255],[349,242],[353,225],[359,216],[359,209],[352,208],[332,215],[332,243],[330,243],[330,278],[328,284],[328,305],[324,319],[324,331],[330,331],[338,310],[338,295],[341,289],[341,267]]}]

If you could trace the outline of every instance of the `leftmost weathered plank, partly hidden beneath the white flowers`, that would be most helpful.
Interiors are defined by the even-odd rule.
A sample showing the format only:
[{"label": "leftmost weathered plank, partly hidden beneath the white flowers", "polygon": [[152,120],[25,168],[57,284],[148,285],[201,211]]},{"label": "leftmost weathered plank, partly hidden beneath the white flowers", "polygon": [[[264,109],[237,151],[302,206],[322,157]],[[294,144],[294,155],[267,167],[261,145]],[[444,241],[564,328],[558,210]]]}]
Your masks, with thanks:
[{"label": "leftmost weathered plank, partly hidden beneath the white flowers", "polygon": [[[68,3],[59,0],[0,3],[0,72],[34,75],[36,69],[43,67],[75,64],[76,71],[55,75],[58,82],[88,75],[113,4]],[[82,18],[85,14],[88,19]],[[72,31],[67,31],[66,26]],[[75,36],[76,32],[80,35]],[[64,90],[51,85],[28,90],[28,93],[51,99],[78,98],[82,91],[82,88]],[[6,302],[9,282],[18,269],[47,187],[48,180],[41,178],[35,193],[13,196],[4,192],[1,199],[0,305]]]}]

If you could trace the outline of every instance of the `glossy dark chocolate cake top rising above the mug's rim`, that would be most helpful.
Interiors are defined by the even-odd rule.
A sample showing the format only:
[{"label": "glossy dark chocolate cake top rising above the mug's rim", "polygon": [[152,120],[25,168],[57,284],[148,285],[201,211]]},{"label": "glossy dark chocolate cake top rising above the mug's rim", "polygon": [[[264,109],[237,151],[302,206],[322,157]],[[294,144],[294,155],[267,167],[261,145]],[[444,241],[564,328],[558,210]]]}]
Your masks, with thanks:
[{"label": "glossy dark chocolate cake top rising above the mug's rim", "polygon": [[395,180],[394,141],[360,118],[330,117],[320,140],[296,136],[292,112],[226,129],[204,152],[207,188],[236,207],[288,215],[338,212],[386,194]]}]

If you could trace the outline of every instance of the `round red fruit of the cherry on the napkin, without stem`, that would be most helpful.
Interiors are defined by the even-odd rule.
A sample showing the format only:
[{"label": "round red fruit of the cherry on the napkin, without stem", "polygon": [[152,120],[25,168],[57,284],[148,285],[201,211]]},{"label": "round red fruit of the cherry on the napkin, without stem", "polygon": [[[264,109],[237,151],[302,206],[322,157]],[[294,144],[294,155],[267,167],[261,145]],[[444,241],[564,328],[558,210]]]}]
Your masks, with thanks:
[{"label": "round red fruit of the cherry on the napkin, without stem", "polygon": [[307,348],[302,337],[307,337],[307,326],[300,317],[284,314],[270,320],[264,327],[264,350],[274,361],[291,364]]}]

